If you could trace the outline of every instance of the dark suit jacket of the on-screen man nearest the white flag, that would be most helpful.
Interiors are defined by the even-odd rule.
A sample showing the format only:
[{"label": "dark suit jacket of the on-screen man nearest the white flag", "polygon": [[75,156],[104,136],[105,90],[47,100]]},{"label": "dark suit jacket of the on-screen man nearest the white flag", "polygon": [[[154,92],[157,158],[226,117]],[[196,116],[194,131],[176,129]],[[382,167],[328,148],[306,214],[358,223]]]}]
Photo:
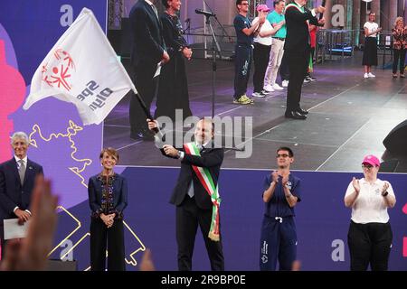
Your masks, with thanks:
[{"label": "dark suit jacket of the on-screen man nearest the white flag", "polygon": [[161,61],[166,45],[163,26],[153,8],[146,1],[139,0],[131,8],[129,19],[133,36],[132,65],[136,66],[140,61]]}]

